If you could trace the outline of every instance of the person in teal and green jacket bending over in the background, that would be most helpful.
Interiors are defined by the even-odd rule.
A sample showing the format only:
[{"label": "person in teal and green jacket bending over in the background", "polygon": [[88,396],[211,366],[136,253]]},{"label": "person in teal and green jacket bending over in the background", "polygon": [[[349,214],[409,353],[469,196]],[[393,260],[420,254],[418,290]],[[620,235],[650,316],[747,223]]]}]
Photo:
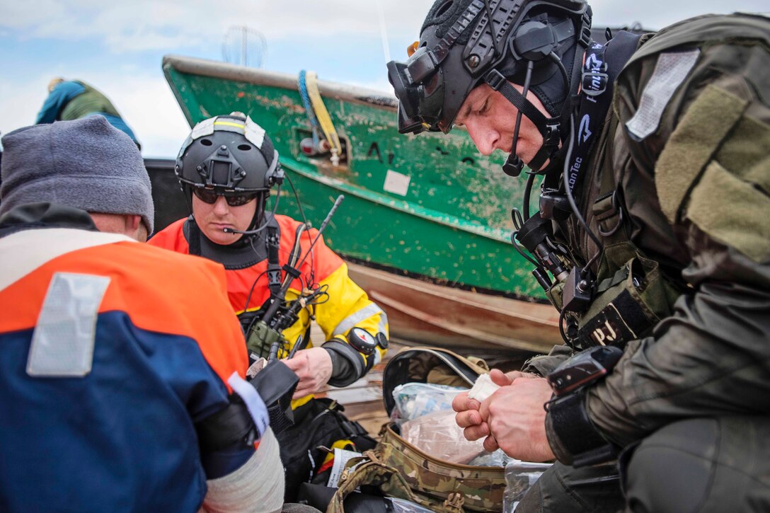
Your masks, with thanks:
[{"label": "person in teal and green jacket bending over in the background", "polygon": [[99,90],[82,80],[60,77],[49,82],[49,96],[35,119],[35,125],[55,121],[72,121],[86,116],[103,116],[109,124],[129,136],[141,148],[132,129],[126,125],[112,102]]}]

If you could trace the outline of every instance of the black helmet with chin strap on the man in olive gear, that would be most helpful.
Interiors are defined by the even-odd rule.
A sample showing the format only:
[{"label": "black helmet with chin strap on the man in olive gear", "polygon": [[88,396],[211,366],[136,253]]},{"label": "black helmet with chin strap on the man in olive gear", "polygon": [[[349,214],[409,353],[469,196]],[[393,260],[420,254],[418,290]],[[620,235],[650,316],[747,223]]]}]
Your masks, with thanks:
[{"label": "black helmet with chin strap on the man in olive gear", "polygon": [[[568,127],[561,129],[568,125],[567,100],[577,94],[590,41],[591,8],[584,0],[437,0],[407,62],[387,65],[399,99],[399,131],[449,132],[470,91],[486,83],[516,106],[517,128],[524,115],[543,135],[530,163],[539,169],[568,135]],[[526,99],[529,90],[550,116]]]}]

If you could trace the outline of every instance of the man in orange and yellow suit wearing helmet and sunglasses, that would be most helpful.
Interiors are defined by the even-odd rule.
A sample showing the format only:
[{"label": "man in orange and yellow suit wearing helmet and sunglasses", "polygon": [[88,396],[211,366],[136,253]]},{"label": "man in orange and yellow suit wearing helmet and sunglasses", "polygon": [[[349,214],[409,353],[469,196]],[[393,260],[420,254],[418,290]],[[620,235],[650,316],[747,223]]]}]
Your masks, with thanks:
[{"label": "man in orange and yellow suit wearing helmet and sunglasses", "polygon": [[[300,482],[329,466],[319,446],[331,448],[341,440],[337,446],[352,441],[358,450],[373,447],[338,405],[312,394],[326,384],[351,384],[382,359],[387,317],[350,279],[346,263],[318,238],[318,230],[276,215],[283,169],[273,142],[249,117],[233,112],[199,122],[179,150],[176,175],[192,215],[149,243],[223,264],[230,304],[254,358],[269,357],[273,347],[260,334],[284,340],[277,354],[273,347],[273,356],[284,359],[300,384],[293,396],[294,425],[276,434],[286,498],[294,498]],[[273,186],[278,193],[266,212]],[[310,341],[311,319],[323,330],[323,344]]]}]

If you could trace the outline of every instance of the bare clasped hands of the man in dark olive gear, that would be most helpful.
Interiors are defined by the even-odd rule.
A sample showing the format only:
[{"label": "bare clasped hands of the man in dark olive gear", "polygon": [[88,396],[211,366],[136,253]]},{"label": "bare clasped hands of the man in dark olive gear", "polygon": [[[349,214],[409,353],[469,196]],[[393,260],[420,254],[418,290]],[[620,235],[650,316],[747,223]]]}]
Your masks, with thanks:
[{"label": "bare clasped hands of the man in dark olive gear", "polygon": [[554,453],[545,435],[544,404],[551,386],[543,377],[519,371],[504,374],[494,369],[490,377],[500,388],[479,403],[467,392],[452,401],[455,420],[470,441],[484,438],[484,449],[500,448],[511,458],[549,461]]}]

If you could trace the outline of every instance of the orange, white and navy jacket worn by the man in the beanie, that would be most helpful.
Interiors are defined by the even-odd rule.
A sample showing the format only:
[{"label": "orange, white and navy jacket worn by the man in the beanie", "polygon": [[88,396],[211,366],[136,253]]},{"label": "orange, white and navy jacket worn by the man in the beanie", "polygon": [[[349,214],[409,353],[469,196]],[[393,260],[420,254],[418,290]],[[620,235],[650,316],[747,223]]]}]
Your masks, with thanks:
[{"label": "orange, white and navy jacket worn by the man in the beanie", "polygon": [[0,509],[197,511],[196,423],[248,364],[222,267],[92,230],[5,233]]}]

